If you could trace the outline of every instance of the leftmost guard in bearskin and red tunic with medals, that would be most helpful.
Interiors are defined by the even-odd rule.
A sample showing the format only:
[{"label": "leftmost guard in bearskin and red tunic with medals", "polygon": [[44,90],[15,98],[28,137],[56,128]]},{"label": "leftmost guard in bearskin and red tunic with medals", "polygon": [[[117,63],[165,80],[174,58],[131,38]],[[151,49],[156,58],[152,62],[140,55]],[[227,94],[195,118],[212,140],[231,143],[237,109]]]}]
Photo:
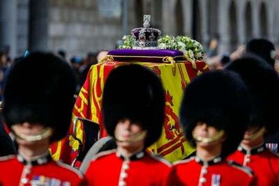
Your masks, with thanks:
[{"label": "leftmost guard in bearskin and red tunic with medals", "polygon": [[35,52],[15,62],[3,93],[3,118],[15,135],[18,154],[0,158],[0,185],[83,185],[81,173],[54,162],[52,141],[66,137],[74,103],[70,65]]}]

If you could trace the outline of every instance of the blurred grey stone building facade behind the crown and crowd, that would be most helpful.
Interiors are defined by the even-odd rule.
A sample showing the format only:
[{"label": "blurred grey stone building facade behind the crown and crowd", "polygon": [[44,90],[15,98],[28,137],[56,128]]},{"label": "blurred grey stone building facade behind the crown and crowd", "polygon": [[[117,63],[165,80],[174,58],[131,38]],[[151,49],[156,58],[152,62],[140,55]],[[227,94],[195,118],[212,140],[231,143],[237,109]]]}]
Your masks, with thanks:
[{"label": "blurred grey stone building facade behind the crown and crowd", "polygon": [[12,57],[25,49],[64,49],[68,56],[113,49],[123,34],[142,26],[143,14],[151,14],[152,26],[163,33],[195,36],[204,47],[217,38],[219,52],[230,52],[250,38],[268,38],[279,45],[279,0],[118,2],[121,14],[108,17],[101,12],[102,0],[1,0],[0,47],[8,45]]}]

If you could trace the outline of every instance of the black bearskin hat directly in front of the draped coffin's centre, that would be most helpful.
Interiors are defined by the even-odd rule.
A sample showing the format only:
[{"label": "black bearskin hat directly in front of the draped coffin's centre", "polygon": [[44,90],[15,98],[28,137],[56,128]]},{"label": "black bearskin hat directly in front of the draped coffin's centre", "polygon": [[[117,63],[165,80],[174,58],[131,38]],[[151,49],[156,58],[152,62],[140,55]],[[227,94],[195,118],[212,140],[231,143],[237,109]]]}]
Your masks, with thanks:
[{"label": "black bearskin hat directly in front of the draped coffin's centre", "polygon": [[116,124],[123,118],[140,123],[147,130],[144,146],[162,133],[165,94],[159,77],[141,65],[121,65],[112,70],[103,91],[103,118],[114,137]]}]

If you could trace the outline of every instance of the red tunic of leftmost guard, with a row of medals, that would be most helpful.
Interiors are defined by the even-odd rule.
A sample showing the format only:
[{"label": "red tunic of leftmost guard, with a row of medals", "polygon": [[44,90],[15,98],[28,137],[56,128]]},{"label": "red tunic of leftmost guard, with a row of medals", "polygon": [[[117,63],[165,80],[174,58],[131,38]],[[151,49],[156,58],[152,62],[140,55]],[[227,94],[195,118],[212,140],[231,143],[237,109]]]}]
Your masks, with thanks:
[{"label": "red tunic of leftmost guard, with a row of medals", "polygon": [[84,185],[81,173],[50,155],[27,162],[20,155],[0,157],[0,185]]}]

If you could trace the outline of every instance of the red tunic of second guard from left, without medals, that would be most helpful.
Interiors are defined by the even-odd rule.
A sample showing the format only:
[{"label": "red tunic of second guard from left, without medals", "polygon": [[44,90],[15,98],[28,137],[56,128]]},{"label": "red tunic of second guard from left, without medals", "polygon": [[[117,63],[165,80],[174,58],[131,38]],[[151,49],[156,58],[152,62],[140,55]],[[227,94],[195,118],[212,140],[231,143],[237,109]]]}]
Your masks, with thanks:
[{"label": "red tunic of second guard from left, without medals", "polygon": [[89,185],[165,185],[170,168],[167,161],[147,153],[124,158],[109,150],[91,161],[85,178]]}]

